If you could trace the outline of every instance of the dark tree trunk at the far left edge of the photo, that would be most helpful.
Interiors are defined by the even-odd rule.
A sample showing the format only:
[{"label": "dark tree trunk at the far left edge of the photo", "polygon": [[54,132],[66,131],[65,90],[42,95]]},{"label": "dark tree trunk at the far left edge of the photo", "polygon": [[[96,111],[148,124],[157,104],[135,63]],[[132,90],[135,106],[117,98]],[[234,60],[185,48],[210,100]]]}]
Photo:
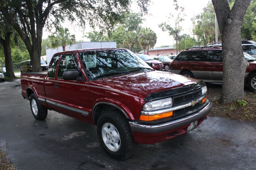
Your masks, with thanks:
[{"label": "dark tree trunk at the far left edge of the photo", "polygon": [[12,53],[10,48],[10,35],[11,32],[6,33],[3,38],[0,38],[0,43],[4,49],[4,59],[5,59],[5,67],[6,67],[6,77],[14,77],[14,71],[12,67]]}]

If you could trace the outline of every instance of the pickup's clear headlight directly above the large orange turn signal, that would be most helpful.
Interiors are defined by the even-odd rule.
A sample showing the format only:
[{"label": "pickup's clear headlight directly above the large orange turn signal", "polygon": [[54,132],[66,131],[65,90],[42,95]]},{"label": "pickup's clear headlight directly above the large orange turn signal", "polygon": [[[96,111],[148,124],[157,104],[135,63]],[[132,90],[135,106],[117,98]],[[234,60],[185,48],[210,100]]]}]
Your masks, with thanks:
[{"label": "pickup's clear headlight directly above the large orange turn signal", "polygon": [[159,110],[159,109],[164,109],[172,107],[172,98],[166,98],[166,99],[161,99],[161,100],[156,100],[156,101],[151,101],[146,103],[143,106],[143,111],[154,111],[154,110]]}]

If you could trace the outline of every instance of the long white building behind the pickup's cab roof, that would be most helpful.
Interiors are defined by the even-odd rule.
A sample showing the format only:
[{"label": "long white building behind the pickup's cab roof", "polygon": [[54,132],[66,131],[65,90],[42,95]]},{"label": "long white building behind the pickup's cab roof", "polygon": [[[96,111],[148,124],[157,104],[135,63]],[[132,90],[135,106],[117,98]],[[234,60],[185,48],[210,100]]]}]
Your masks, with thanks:
[{"label": "long white building behind the pickup's cab roof", "polygon": [[[88,48],[116,48],[116,42],[79,42],[74,43],[71,46],[66,45],[66,51],[74,50],[74,49],[88,49]],[[57,48],[47,48],[46,56],[47,63],[49,64],[52,56],[55,53],[62,52],[62,46]]]}]

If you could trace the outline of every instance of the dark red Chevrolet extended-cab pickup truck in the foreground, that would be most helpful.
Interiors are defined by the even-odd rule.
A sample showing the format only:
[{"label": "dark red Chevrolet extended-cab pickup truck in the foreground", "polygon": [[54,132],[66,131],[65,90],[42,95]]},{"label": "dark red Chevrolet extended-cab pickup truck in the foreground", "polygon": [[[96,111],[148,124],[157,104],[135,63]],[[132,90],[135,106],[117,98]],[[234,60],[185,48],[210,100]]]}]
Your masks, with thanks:
[{"label": "dark red Chevrolet extended-cab pickup truck in the foreground", "polygon": [[49,109],[96,125],[100,144],[119,160],[137,143],[186,134],[212,108],[203,81],[156,71],[127,49],[56,53],[48,72],[22,73],[20,80],[35,119]]}]

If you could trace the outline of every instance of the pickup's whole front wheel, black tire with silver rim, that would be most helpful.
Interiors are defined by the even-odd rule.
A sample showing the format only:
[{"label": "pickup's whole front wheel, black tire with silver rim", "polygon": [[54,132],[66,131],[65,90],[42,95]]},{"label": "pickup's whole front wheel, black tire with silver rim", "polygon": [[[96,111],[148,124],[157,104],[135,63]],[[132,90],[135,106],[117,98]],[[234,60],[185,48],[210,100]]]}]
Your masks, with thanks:
[{"label": "pickup's whole front wheel, black tire with silver rim", "polygon": [[106,111],[97,121],[100,144],[116,160],[129,158],[137,147],[128,121],[121,114],[115,110]]}]

